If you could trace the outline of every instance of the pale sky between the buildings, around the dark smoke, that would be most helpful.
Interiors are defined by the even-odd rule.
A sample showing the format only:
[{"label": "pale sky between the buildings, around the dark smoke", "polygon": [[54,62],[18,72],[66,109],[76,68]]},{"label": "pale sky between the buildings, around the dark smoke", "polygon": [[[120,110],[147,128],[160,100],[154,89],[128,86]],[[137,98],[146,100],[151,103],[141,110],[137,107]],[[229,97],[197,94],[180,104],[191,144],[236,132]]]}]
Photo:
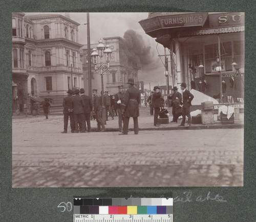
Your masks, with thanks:
[{"label": "pale sky between the buildings, around the dark smoke", "polygon": [[[26,13],[26,12],[25,12]],[[26,13],[26,15],[39,14],[39,13]],[[44,14],[44,13],[40,13]],[[69,14],[70,18],[77,23],[78,26],[78,41],[82,45],[87,45],[87,26],[83,25],[87,23],[87,13],[54,13],[54,14]],[[149,64],[142,66],[142,69],[138,72],[139,81],[144,82],[144,87],[149,88],[151,83],[151,90],[155,85],[166,85],[166,77],[164,76],[164,65],[161,61],[164,57],[159,57],[158,51],[161,55],[164,54],[164,48],[162,45],[155,41],[155,38],[145,34],[144,30],[138,23],[142,19],[146,19],[148,13],[90,13],[90,38],[91,44],[97,43],[98,40],[103,37],[123,37],[127,30],[134,30],[137,34],[141,35],[144,46],[151,47],[150,53],[152,55],[152,61]]]}]

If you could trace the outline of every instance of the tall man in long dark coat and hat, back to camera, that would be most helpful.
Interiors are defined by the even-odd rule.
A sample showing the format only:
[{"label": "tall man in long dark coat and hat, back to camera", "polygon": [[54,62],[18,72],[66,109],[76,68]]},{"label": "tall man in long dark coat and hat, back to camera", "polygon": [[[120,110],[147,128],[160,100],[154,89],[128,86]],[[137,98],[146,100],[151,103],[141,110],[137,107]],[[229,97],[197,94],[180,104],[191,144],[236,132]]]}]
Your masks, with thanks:
[{"label": "tall man in long dark coat and hat, back to camera", "polygon": [[139,104],[140,104],[140,91],[134,87],[134,79],[129,79],[127,84],[129,84],[128,90],[126,90],[124,95],[124,114],[123,114],[123,132],[119,135],[128,134],[129,119],[133,117],[134,122],[134,134],[139,133]]}]

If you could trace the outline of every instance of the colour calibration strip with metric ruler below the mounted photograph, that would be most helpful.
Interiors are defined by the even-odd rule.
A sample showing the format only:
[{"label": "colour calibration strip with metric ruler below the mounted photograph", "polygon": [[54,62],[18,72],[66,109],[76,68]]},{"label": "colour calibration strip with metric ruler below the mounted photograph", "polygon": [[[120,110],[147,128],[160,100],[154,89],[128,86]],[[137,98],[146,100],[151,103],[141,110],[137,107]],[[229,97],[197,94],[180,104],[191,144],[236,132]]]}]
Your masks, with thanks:
[{"label": "colour calibration strip with metric ruler below the mounted photograph", "polygon": [[74,198],[73,222],[173,222],[173,198]]}]

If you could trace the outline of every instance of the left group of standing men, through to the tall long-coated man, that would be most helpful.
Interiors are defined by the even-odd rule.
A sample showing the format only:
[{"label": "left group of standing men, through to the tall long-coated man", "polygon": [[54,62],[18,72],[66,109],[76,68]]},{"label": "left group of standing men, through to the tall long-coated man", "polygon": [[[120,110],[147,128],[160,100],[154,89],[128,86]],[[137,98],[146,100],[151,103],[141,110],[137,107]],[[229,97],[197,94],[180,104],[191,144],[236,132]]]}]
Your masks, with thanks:
[{"label": "left group of standing men, through to the tall long-coated man", "polygon": [[[138,134],[138,116],[139,116],[139,103],[140,103],[140,92],[134,87],[134,79],[129,79],[127,84],[129,88],[123,92],[123,86],[118,86],[118,93],[114,96],[114,103],[118,113],[118,127],[120,134],[127,135],[129,127],[129,119],[133,117],[134,120],[134,133]],[[91,115],[96,116],[97,121],[97,132],[105,131],[105,126],[102,121],[102,102],[105,106],[106,120],[108,120],[108,112],[114,119],[114,114],[111,108],[111,97],[108,92],[101,96],[97,95],[97,90],[92,90],[93,101],[87,95],[84,95],[84,89],[77,88],[75,91],[67,91],[68,96],[63,99],[63,120],[64,130],[62,134],[68,132],[68,121],[70,119],[71,132],[90,132]],[[103,97],[103,99],[102,99]]]}]

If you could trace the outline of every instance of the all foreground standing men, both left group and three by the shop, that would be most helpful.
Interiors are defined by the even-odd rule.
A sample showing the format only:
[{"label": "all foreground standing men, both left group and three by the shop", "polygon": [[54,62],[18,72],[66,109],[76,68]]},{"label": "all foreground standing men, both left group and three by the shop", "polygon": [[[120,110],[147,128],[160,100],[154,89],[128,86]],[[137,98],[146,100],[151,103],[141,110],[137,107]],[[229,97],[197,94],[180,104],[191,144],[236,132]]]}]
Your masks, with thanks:
[{"label": "all foreground standing men, both left group and three by the shop", "polygon": [[[118,93],[113,96],[114,104],[118,114],[118,129],[119,135],[127,135],[129,128],[130,117],[133,117],[134,121],[134,134],[139,132],[139,104],[140,104],[140,91],[134,87],[134,79],[129,79],[127,84],[129,88],[126,92],[123,92],[123,86],[118,86]],[[173,107],[173,121],[177,122],[179,116],[182,116],[182,122],[180,126],[185,125],[186,117],[187,126],[191,125],[191,116],[189,107],[191,106],[191,100],[194,96],[186,90],[186,83],[181,83],[182,94],[178,92],[178,88],[174,87],[173,95],[168,95],[170,100],[170,106]],[[111,97],[108,92],[101,92],[101,96],[98,96],[97,90],[92,90],[93,100],[87,95],[84,95],[84,89],[77,88],[75,91],[69,90],[68,96],[63,99],[63,120],[64,130],[63,134],[68,132],[68,120],[70,119],[71,132],[90,132],[91,131],[91,116],[95,115],[97,121],[97,132],[105,131],[105,126],[102,121],[102,103],[105,106],[106,120],[108,120],[108,112],[112,119],[114,115],[111,108]],[[147,99],[150,103],[151,115],[154,113],[154,126],[159,127],[158,116],[160,110],[164,107],[164,100],[162,98],[160,88],[154,87],[152,95]],[[154,112],[153,112],[154,109]]]}]

